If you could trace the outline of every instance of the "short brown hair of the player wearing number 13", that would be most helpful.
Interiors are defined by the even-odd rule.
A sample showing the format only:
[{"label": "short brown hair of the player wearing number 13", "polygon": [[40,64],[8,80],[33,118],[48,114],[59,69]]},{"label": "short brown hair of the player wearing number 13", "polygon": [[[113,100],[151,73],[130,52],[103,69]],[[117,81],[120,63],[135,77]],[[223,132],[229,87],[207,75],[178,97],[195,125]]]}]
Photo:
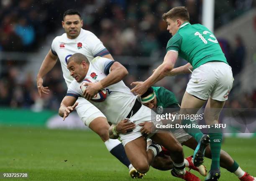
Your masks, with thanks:
[{"label": "short brown hair of the player wearing number 13", "polygon": [[179,6],[179,7],[172,8],[167,13],[164,13],[162,15],[162,18],[164,21],[166,21],[167,18],[170,18],[170,19],[181,18],[182,20],[189,21],[189,13],[186,7]]}]

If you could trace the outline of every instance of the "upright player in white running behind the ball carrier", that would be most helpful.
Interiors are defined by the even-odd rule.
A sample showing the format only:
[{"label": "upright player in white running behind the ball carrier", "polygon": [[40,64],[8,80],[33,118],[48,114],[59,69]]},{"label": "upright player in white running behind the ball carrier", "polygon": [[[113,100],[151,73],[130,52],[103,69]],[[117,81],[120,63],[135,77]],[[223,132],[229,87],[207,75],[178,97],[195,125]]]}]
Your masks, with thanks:
[{"label": "upright player in white running behind the ball carrier", "polygon": [[[82,53],[89,61],[96,56],[113,60],[102,42],[92,32],[82,29],[82,25],[83,21],[77,10],[67,10],[64,13],[62,26],[65,33],[54,38],[51,50],[44,58],[37,75],[37,87],[40,96],[42,93],[48,94],[49,92],[49,88],[43,86],[43,78],[54,67],[57,58],[61,62],[61,69],[67,86],[74,80],[67,69],[67,60],[74,53]],[[84,124],[97,133],[104,141],[108,151],[129,168],[132,177],[138,175],[125,155],[122,143],[119,140],[109,139],[108,128],[110,125],[106,117],[84,98],[79,98],[77,102],[79,104],[76,110]]]}]

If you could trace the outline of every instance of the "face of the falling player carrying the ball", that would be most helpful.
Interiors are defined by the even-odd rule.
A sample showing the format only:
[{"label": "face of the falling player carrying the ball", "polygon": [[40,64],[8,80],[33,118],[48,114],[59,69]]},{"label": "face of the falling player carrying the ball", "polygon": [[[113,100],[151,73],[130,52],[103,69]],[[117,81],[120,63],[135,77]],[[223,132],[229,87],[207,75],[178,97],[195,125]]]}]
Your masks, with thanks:
[{"label": "face of the falling player carrying the ball", "polygon": [[86,76],[88,71],[88,65],[85,61],[83,61],[81,64],[70,61],[67,65],[67,68],[69,69],[70,75],[75,80],[77,80],[77,82],[81,82],[82,80],[84,80],[84,77]]}]

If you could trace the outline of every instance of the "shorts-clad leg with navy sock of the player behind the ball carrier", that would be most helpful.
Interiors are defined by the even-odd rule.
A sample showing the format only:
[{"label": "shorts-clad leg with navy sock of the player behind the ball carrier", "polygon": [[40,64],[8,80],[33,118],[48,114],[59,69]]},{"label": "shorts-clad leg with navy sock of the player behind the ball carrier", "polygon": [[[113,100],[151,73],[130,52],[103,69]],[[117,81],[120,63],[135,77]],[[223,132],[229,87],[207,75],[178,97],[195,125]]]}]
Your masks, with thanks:
[{"label": "shorts-clad leg with navy sock of the player behind the ball carrier", "polygon": [[105,116],[84,98],[79,98],[77,101],[78,106],[76,110],[81,120],[84,121],[84,124],[100,136],[108,151],[113,156],[118,158],[128,168],[131,168],[132,165],[125,154],[122,143],[118,139],[109,138],[108,129],[110,126]]}]

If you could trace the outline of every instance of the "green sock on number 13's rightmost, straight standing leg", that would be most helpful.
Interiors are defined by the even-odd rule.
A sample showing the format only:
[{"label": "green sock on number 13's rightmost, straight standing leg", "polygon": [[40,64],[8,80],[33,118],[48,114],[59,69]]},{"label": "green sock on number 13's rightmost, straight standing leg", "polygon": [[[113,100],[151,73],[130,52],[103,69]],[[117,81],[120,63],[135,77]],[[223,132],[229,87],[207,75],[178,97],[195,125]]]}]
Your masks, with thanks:
[{"label": "green sock on number 13's rightmost, straight standing leg", "polygon": [[220,128],[209,128],[210,147],[212,152],[211,170],[220,170],[220,149],[222,132]]}]

